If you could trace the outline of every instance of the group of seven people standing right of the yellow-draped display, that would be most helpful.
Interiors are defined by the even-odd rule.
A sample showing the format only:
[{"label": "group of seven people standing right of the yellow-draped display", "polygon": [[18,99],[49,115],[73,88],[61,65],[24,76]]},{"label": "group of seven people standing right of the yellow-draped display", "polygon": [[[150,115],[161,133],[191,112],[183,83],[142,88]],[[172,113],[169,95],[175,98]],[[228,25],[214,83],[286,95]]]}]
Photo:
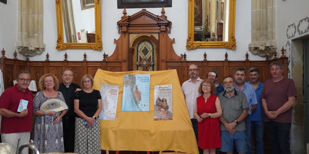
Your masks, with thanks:
[{"label": "group of seven people standing right of the yellow-draped display", "polygon": [[[254,130],[256,154],[264,153],[264,125],[268,132],[273,154],[290,153],[292,106],[296,87],[292,79],[282,76],[283,65],[273,62],[269,66],[272,79],[264,84],[258,79],[260,71],[247,72],[238,67],[234,77],[222,78],[210,70],[207,79],[200,79],[196,64],[189,66],[190,79],[181,89],[184,94],[200,154],[215,154],[216,148],[228,154],[251,154]],[[266,115],[266,116],[265,116]]]}]

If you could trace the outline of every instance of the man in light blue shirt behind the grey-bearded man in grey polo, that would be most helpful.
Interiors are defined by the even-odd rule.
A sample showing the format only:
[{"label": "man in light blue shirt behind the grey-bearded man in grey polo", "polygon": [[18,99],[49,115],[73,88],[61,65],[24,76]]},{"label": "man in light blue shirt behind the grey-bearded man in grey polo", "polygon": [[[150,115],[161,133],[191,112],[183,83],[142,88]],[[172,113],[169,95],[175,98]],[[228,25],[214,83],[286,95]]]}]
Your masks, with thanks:
[{"label": "man in light blue shirt behind the grey-bearded man in grey polo", "polygon": [[245,82],[246,75],[246,70],[240,67],[238,67],[234,72],[235,89],[245,93],[249,105],[248,115],[245,118],[248,148],[246,154],[251,154],[251,113],[257,107],[257,100],[254,88],[249,83]]}]

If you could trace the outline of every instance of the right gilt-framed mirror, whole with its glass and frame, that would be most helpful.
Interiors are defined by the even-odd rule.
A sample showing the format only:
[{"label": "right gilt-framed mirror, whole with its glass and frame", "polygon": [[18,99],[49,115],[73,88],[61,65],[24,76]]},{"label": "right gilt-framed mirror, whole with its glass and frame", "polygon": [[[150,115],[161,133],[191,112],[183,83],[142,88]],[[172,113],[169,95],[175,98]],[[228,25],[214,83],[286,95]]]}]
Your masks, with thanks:
[{"label": "right gilt-framed mirror, whole with its glass and frame", "polygon": [[189,0],[187,49],[236,48],[236,0]]}]

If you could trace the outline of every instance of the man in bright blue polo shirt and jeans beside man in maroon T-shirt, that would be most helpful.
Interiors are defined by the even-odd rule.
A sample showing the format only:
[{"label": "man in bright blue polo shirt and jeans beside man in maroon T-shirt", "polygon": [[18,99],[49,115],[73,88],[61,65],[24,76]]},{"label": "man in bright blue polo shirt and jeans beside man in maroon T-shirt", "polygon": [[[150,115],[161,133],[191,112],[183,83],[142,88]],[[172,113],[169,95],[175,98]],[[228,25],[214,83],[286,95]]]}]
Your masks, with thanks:
[{"label": "man in bright blue polo shirt and jeans beside man in maroon T-shirt", "polygon": [[249,70],[250,81],[249,84],[255,89],[257,107],[251,113],[251,137],[252,131],[254,129],[255,139],[256,139],[256,154],[264,153],[264,116],[265,112],[262,106],[262,99],[260,98],[264,84],[261,83],[258,79],[260,77],[260,70],[256,67],[253,67]]}]

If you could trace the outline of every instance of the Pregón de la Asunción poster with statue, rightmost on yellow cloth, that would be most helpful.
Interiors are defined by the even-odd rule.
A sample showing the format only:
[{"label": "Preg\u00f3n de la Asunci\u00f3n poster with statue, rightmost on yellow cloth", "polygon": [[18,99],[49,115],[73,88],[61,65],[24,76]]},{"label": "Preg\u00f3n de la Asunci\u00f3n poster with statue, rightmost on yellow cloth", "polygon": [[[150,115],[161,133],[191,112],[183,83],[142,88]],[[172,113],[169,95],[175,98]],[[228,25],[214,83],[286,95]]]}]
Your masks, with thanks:
[{"label": "Preg\u00f3n de la Asunci\u00f3n poster with statue, rightmost on yellow cloth", "polygon": [[172,85],[155,86],[154,120],[173,120]]}]

